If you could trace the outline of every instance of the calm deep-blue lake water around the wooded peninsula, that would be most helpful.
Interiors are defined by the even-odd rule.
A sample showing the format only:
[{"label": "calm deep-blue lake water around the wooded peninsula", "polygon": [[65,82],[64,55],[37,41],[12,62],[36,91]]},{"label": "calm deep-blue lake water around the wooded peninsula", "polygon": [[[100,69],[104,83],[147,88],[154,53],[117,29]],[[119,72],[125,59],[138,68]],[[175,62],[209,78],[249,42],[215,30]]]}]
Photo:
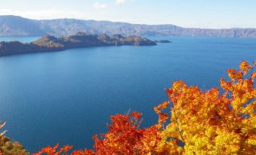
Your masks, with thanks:
[{"label": "calm deep-blue lake water around the wooded peninsula", "polygon": [[91,147],[91,136],[106,132],[110,115],[132,109],[143,112],[143,126],[156,123],[153,106],[167,99],[171,82],[181,79],[206,90],[227,78],[227,68],[256,59],[256,39],[155,38],[172,43],[0,57],[6,135],[31,152],[57,142]]}]

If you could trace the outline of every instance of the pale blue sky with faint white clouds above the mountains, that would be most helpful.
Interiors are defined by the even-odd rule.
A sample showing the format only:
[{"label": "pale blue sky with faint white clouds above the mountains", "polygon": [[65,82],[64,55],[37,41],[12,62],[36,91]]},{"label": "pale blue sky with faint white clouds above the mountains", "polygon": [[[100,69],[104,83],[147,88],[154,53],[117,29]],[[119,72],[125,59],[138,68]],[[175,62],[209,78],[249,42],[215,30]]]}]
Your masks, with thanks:
[{"label": "pale blue sky with faint white clouds above the mountains", "polygon": [[256,0],[0,0],[0,15],[193,28],[256,28]]}]

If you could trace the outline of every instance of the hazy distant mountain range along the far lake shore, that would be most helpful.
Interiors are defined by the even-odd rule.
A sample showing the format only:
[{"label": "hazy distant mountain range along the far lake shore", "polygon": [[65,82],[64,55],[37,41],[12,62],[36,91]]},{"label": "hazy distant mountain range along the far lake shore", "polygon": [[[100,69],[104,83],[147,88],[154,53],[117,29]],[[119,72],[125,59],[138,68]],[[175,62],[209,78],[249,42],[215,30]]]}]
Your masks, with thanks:
[{"label": "hazy distant mountain range along the far lake shore", "polygon": [[256,29],[194,29],[174,25],[145,25],[97,20],[29,20],[17,16],[0,16],[0,36],[42,36],[88,34],[168,35],[256,38]]}]

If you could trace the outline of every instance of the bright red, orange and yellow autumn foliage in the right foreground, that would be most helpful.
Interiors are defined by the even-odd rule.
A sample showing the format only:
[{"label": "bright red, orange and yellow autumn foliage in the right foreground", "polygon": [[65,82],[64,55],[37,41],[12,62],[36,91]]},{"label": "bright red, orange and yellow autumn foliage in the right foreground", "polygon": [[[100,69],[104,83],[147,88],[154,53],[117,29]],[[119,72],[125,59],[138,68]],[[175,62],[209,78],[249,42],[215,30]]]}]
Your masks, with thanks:
[{"label": "bright red, orange and yellow autumn foliage in the right foreground", "polygon": [[[243,61],[239,71],[227,70],[231,81],[221,79],[222,94],[217,88],[202,91],[183,81],[174,82],[166,90],[172,105],[163,102],[154,108],[158,123],[140,129],[140,113],[116,114],[110,117],[109,132],[94,136],[94,150],[71,154],[255,154],[255,64]],[[168,107],[170,111],[164,113]],[[35,154],[59,155],[72,148],[57,147]]]}]

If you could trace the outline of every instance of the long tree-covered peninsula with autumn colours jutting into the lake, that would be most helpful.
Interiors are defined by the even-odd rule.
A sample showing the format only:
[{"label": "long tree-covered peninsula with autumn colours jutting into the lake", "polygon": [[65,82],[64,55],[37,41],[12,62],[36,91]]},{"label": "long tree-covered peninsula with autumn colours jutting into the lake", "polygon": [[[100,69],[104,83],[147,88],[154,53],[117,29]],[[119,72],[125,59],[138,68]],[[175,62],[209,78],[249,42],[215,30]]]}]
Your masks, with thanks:
[{"label": "long tree-covered peninsula with autumn colours jutting into the lake", "polygon": [[8,56],[21,53],[42,53],[62,51],[71,48],[82,47],[103,47],[103,46],[153,46],[155,41],[141,38],[138,35],[88,35],[79,32],[76,35],[52,36],[47,35],[31,43],[21,43],[20,41],[0,42],[0,56]]}]

